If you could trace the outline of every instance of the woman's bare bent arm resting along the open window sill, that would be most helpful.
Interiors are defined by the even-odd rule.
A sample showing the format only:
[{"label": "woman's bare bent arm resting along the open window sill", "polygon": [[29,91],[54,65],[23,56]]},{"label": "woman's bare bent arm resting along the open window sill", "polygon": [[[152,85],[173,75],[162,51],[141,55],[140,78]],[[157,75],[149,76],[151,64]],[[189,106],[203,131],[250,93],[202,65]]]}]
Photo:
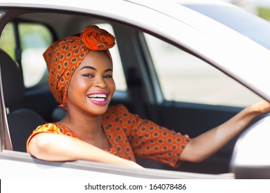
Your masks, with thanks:
[{"label": "woman's bare bent arm resting along the open window sill", "polygon": [[30,140],[28,152],[45,161],[87,160],[142,168],[141,165],[105,152],[96,146],[71,136],[42,132]]}]

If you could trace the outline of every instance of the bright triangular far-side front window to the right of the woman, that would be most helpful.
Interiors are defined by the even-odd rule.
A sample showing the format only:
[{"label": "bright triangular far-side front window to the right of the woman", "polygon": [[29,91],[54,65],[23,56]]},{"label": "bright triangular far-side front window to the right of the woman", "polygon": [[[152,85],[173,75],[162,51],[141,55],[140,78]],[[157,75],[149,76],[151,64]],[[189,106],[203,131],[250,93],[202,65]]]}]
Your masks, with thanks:
[{"label": "bright triangular far-side front window to the right of the woman", "polygon": [[208,63],[145,34],[166,101],[244,107],[259,96]]}]

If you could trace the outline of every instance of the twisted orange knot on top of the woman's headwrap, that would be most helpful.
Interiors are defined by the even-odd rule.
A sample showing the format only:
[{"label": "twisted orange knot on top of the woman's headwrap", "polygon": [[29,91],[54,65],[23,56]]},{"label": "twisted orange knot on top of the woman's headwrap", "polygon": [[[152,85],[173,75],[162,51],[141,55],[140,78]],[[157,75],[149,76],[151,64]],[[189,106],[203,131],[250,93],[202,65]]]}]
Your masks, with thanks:
[{"label": "twisted orange knot on top of the woman's headwrap", "polygon": [[81,39],[90,50],[107,50],[115,44],[114,36],[96,25],[84,28]]}]

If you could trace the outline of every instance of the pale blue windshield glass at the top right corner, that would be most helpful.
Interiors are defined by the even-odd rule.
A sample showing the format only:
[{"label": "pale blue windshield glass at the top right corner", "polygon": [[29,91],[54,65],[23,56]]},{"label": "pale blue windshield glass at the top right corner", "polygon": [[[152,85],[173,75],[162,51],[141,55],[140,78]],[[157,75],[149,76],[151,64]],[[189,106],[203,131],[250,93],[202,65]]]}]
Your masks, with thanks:
[{"label": "pale blue windshield glass at the top right corner", "polygon": [[233,6],[183,5],[244,34],[270,50],[270,22]]}]

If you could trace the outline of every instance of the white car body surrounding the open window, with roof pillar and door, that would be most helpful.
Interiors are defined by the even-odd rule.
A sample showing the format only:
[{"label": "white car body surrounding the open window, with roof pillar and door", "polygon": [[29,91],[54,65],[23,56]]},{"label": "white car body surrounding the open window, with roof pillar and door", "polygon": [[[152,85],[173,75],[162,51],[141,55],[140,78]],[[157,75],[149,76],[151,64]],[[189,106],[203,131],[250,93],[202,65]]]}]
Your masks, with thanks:
[{"label": "white car body surrounding the open window, with roof pillar and door", "polygon": [[[231,6],[219,1],[44,1],[39,3],[34,0],[8,0],[0,1],[0,9],[24,8],[43,10],[70,10],[84,14],[93,14],[98,17],[106,17],[120,23],[127,23],[134,28],[157,34],[165,41],[173,43],[183,49],[189,50],[199,58],[207,61],[215,68],[221,70],[228,76],[239,81],[253,92],[270,101],[270,50],[256,43],[248,37],[224,26],[222,23],[210,19],[199,12],[195,12],[181,4],[211,4],[215,6]],[[234,6],[232,6],[234,8]],[[238,10],[239,9],[239,10]],[[240,8],[236,8],[243,12]],[[10,10],[12,12],[12,10]],[[0,19],[10,20],[14,14],[1,14]],[[254,16],[255,17],[255,16]],[[236,18],[237,19],[237,18]],[[256,19],[260,20],[256,17]],[[0,20],[3,22],[5,20]],[[264,21],[262,21],[264,22]],[[62,23],[62,27],[64,28]],[[269,24],[270,26],[270,24]],[[61,26],[60,26],[61,27]],[[3,26],[1,26],[3,28]],[[269,27],[270,28],[270,27]],[[64,34],[63,34],[64,35]],[[207,45],[207,46],[206,46]],[[233,46],[232,46],[233,45]],[[241,52],[239,50],[242,50]],[[159,90],[156,90],[159,93]],[[3,99],[3,97],[2,97]],[[3,101],[2,101],[3,103]],[[5,112],[4,105],[1,107]],[[269,124],[270,117],[264,117],[262,122]],[[6,129],[5,129],[6,128]],[[260,128],[255,128],[253,132],[260,132]],[[91,178],[95,179],[111,178],[172,178],[172,179],[234,179],[232,170],[228,174],[195,174],[189,172],[172,172],[164,170],[135,170],[125,167],[116,167],[102,163],[89,161],[74,161],[71,163],[48,163],[33,159],[29,154],[12,152],[8,141],[8,128],[6,123],[1,124],[1,153],[0,153],[0,176],[1,178],[12,179],[15,174],[17,178]],[[261,141],[269,141],[268,134],[260,135]],[[254,136],[252,135],[251,138]],[[251,139],[246,139],[251,141]],[[242,140],[237,148],[241,147]],[[245,142],[246,143],[246,142]],[[241,147],[245,150],[247,147]],[[250,147],[249,147],[250,148]],[[254,146],[256,157],[253,157],[253,165],[260,165],[262,152]],[[238,153],[237,150],[240,152]],[[232,168],[242,165],[246,161],[246,154],[240,149],[235,149]],[[258,160],[256,160],[258,158]],[[263,156],[263,165],[269,167],[270,156]],[[249,165],[249,163],[244,163]],[[10,172],[10,170],[16,172]],[[72,175],[69,175],[72,174]],[[256,176],[256,175],[255,175]],[[242,176],[240,175],[240,178]],[[266,176],[267,178],[270,175]]]}]

